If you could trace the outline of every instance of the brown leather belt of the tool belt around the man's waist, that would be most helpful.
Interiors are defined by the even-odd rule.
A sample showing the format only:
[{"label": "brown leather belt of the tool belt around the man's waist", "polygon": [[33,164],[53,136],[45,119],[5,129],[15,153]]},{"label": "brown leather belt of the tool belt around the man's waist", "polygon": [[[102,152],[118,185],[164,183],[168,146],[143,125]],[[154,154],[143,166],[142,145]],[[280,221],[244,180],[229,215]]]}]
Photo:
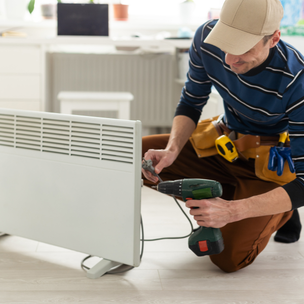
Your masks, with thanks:
[{"label": "brown leather belt of the tool belt around the man's waist", "polygon": [[[222,120],[220,120],[218,123],[214,122],[214,127],[216,128],[218,134],[223,135],[229,135],[232,131],[226,127],[226,125],[223,123]],[[279,143],[279,135],[274,136],[259,136],[259,135],[244,135],[241,133],[236,133],[236,140],[233,140],[233,143],[237,147],[239,152],[243,152],[245,150],[251,149],[251,148],[258,148],[261,145],[271,145],[276,146]],[[289,147],[289,141],[286,141],[284,144],[285,147]]]}]

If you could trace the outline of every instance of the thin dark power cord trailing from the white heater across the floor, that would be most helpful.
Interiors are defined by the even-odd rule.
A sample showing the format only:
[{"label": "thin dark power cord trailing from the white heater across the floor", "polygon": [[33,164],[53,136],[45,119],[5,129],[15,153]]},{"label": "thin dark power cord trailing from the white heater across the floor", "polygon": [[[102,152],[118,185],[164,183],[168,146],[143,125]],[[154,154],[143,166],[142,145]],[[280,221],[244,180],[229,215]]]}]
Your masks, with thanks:
[{"label": "thin dark power cord trailing from the white heater across the floor", "polygon": [[[155,175],[156,177],[158,177],[158,179],[159,179],[160,182],[163,181],[157,173],[154,172],[154,175]],[[186,236],[184,236],[184,237],[168,237],[168,238],[159,238],[159,239],[149,239],[149,240],[145,240],[145,239],[144,239],[144,234],[143,234],[142,217],[140,216],[141,237],[142,237],[142,239],[141,239],[140,260],[141,260],[142,255],[143,255],[143,244],[144,244],[145,241],[146,241],[146,242],[150,242],[150,241],[159,241],[159,240],[173,240],[173,239],[176,240],[176,239],[184,239],[184,238],[187,238],[187,237],[191,236],[195,231],[197,231],[198,229],[200,229],[200,227],[198,227],[198,228],[196,228],[196,229],[193,228],[193,224],[192,224],[192,222],[191,222],[191,219],[189,219],[189,217],[188,217],[188,216],[186,215],[186,213],[183,211],[183,209],[181,208],[180,204],[177,202],[176,197],[175,197],[174,195],[171,195],[171,196],[172,196],[172,198],[174,199],[174,201],[175,201],[175,203],[177,204],[177,206],[179,207],[179,209],[181,210],[181,212],[184,214],[184,216],[185,216],[185,217],[187,218],[187,220],[189,221],[189,223],[190,223],[190,225],[191,225],[191,233],[189,233],[188,235],[186,235]],[[88,256],[86,256],[86,257],[81,261],[81,268],[82,268],[83,270],[85,270],[85,271],[86,271],[86,270],[90,270],[89,267],[87,267],[86,265],[84,265],[84,262],[85,262],[87,259],[89,259],[90,257],[92,257],[92,256],[93,256],[93,255],[88,255]],[[118,266],[117,268],[114,268],[114,269],[112,269],[112,270],[109,270],[108,272],[106,272],[106,274],[111,274],[111,275],[113,275],[113,274],[121,274],[121,273],[127,272],[127,271],[129,271],[129,270],[131,270],[131,269],[134,268],[134,266],[130,266],[130,267],[128,267],[127,269],[124,269],[125,267],[126,267],[125,264],[120,265],[120,266]],[[123,270],[122,270],[122,269],[123,269]]]}]

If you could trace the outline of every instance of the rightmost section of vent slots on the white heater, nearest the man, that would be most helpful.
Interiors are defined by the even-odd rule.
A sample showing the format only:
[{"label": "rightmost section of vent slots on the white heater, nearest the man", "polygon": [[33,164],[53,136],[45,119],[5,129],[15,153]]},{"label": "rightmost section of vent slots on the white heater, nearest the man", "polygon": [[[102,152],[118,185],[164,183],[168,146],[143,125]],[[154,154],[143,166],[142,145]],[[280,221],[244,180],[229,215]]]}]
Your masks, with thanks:
[{"label": "rightmost section of vent slots on the white heater, nearest the man", "polygon": [[102,125],[101,159],[133,164],[134,129]]}]

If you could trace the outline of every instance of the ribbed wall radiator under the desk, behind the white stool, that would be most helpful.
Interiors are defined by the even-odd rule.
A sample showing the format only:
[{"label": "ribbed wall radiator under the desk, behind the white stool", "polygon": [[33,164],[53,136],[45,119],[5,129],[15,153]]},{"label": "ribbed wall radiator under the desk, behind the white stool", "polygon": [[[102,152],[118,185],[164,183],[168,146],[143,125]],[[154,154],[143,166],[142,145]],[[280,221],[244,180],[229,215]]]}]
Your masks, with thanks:
[{"label": "ribbed wall radiator under the desk, behind the white stool", "polygon": [[176,59],[172,54],[50,53],[48,66],[48,110],[52,112],[59,112],[60,91],[130,92],[134,95],[132,120],[140,120],[144,127],[171,127],[181,93],[174,82]]}]

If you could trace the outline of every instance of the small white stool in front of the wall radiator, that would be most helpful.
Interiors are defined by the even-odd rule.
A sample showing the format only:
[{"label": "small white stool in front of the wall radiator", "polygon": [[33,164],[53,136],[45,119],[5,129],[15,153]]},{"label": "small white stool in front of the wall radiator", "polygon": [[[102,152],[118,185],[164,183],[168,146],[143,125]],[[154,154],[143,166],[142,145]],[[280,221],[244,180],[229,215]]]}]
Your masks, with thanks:
[{"label": "small white stool in front of the wall radiator", "polygon": [[130,119],[129,92],[59,92],[60,113],[72,114],[73,110],[116,110],[118,119]]}]

